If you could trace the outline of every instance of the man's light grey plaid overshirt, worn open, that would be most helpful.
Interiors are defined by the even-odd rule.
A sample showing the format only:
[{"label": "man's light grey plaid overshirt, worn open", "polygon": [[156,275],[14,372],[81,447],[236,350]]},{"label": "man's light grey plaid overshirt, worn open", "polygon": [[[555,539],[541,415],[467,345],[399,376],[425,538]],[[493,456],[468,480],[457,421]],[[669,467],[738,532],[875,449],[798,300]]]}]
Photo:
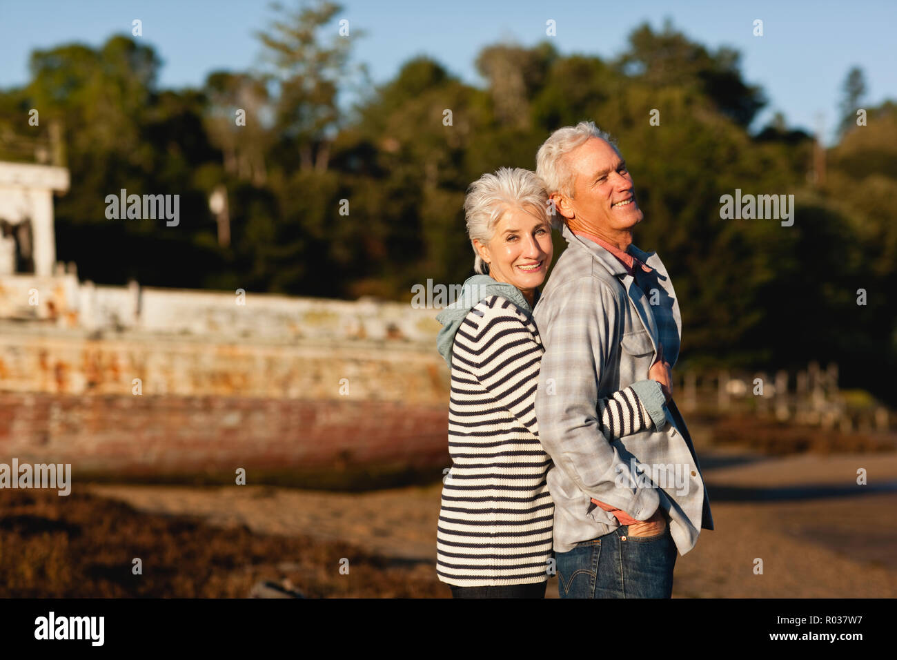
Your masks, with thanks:
[{"label": "man's light grey plaid overshirt, worn open", "polygon": [[[666,406],[666,424],[610,443],[598,430],[596,410],[599,398],[648,378],[658,345],[675,365],[682,327],[675,290],[653,252],[630,246],[651,268],[635,269],[636,281],[597,243],[566,226],[562,234],[567,250],[534,311],[545,349],[536,418],[539,439],[554,463],[547,476],[555,505],[554,550],[572,550],[619,526],[592,503],[594,497],[637,520],[647,520],[659,506],[685,554],[701,528],[713,529],[713,522],[697,456],[675,403]],[[682,472],[681,487],[646,483],[646,475],[664,469]]]}]

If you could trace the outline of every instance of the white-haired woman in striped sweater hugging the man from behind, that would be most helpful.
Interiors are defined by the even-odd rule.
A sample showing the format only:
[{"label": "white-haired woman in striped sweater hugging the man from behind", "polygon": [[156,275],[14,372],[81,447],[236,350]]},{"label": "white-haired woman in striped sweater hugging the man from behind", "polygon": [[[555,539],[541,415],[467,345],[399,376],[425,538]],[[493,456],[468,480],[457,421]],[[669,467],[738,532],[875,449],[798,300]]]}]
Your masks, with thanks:
[{"label": "white-haired woman in striped sweater hugging the man from behind", "polygon": [[[464,208],[478,275],[436,317],[437,345],[451,369],[452,458],[437,574],[456,598],[543,598],[553,575],[554,505],[536,423],[543,348],[532,312],[552,262],[548,194],[535,173],[501,168],[470,186]],[[605,436],[651,427],[638,393],[648,383],[598,402]],[[588,497],[583,506],[593,507]]]}]

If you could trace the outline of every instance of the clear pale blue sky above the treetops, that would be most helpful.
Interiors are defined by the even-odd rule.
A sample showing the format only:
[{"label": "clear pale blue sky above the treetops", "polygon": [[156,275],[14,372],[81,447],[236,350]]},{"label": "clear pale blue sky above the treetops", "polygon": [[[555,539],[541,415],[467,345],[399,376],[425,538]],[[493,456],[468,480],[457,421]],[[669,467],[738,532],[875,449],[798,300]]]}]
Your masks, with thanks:
[{"label": "clear pale blue sky above the treetops", "polygon": [[[288,6],[296,0],[283,0]],[[851,66],[867,80],[867,101],[897,99],[897,2],[816,0],[767,2],[570,2],[551,0],[344,0],[338,18],[349,21],[353,61],[364,62],[374,84],[418,55],[433,57],[468,84],[484,86],[475,58],[484,47],[514,42],[524,47],[553,40],[563,54],[612,58],[626,48],[633,28],[649,22],[659,30],[666,18],[692,40],[715,49],[736,48],[750,84],[759,84],[769,104],[753,128],[784,113],[791,128],[822,126],[835,135],[841,87]],[[0,0],[0,88],[27,82],[35,48],[79,41],[100,44],[115,33],[131,33],[134,19],[163,62],[159,85],[199,86],[214,70],[258,66],[254,36],[274,17],[267,0]],[[762,37],[753,22],[762,20]],[[553,20],[556,36],[546,37]],[[334,30],[336,25],[334,24]],[[595,119],[600,125],[600,118]],[[604,128],[604,127],[603,127]],[[607,127],[613,133],[613,127]]]}]

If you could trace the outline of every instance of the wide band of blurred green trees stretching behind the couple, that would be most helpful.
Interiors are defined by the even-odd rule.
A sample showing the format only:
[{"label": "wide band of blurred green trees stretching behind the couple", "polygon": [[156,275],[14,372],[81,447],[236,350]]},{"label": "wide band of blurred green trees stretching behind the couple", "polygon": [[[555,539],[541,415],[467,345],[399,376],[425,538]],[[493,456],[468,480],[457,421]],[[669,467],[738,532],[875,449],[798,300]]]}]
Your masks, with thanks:
[{"label": "wide band of blurred green trees stretching behind the couple", "polygon": [[[749,132],[765,99],[736,51],[711,51],[669,23],[636,28],[613,61],[562,56],[548,42],[483,48],[483,88],[414,57],[344,112],[339,94],[358,76],[352,40],[335,36],[338,5],[274,10],[259,35],[260,72],[159,90],[152,48],[117,36],[96,49],[35,51],[30,84],[0,92],[4,157],[44,148],[52,130],[63,136],[72,189],[57,202],[57,250],[83,277],[410,300],[416,283],[472,274],[462,210],[472,181],[501,166],[535,169],[551,131],[592,119],[633,174],[645,211],[636,243],[658,251],[675,279],[685,362],[833,360],[845,384],[871,379],[893,400],[884,375],[863,373],[870,360],[881,374],[897,364],[893,103],[868,108],[867,126],[843,133],[815,184],[811,136],[781,115]],[[852,71],[845,118],[855,119],[864,89]],[[41,113],[31,131],[30,108]],[[10,136],[32,142],[16,152]],[[207,205],[220,186],[227,246]],[[122,188],[180,194],[181,226],[107,219],[103,200]],[[795,195],[794,225],[721,218],[720,197],[736,189]]]}]

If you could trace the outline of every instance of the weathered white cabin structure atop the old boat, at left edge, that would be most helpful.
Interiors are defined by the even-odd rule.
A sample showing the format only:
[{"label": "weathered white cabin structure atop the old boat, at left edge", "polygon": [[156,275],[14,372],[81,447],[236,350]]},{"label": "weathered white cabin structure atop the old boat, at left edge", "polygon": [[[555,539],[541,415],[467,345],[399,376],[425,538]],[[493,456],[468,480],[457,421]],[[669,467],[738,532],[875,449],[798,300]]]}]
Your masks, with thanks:
[{"label": "weathered white cabin structure atop the old boat, at left edge", "polygon": [[0,163],[0,275],[15,272],[17,256],[33,260],[34,275],[53,275],[53,193],[68,186],[65,167]]}]

